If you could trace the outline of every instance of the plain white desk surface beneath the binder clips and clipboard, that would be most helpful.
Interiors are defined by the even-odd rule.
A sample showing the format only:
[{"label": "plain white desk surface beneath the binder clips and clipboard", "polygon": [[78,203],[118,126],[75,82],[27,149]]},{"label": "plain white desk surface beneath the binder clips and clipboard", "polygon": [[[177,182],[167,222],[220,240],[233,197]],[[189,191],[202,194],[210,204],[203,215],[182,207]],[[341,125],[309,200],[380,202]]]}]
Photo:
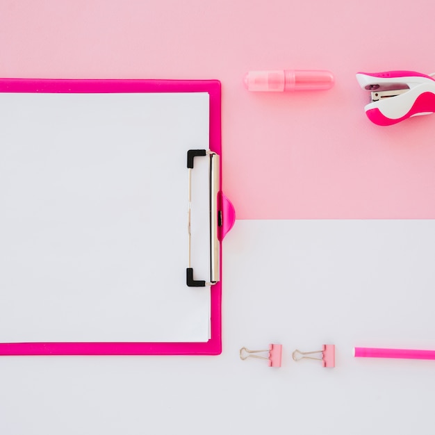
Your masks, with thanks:
[{"label": "plain white desk surface beneath the binder clips and clipboard", "polygon": [[[352,347],[435,347],[434,230],[238,221],[224,240],[222,355],[0,358],[0,433],[425,433],[434,361],[354,359]],[[364,252],[343,253],[355,243]],[[240,361],[240,347],[269,343],[284,346],[281,368]],[[334,369],[291,359],[324,343],[336,344]]]}]

